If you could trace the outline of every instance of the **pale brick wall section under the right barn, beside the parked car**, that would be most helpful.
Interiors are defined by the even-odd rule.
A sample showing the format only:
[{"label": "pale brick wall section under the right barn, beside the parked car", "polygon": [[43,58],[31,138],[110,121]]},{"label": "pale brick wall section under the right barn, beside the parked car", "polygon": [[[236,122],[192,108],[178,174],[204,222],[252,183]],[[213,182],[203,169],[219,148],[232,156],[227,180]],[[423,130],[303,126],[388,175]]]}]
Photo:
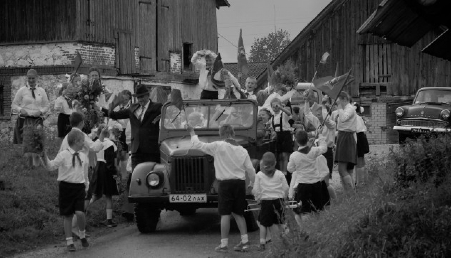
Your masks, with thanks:
[{"label": "pale brick wall section under the right barn, beside the parked car", "polygon": [[371,116],[368,116],[368,143],[387,144],[387,104],[371,103]]}]

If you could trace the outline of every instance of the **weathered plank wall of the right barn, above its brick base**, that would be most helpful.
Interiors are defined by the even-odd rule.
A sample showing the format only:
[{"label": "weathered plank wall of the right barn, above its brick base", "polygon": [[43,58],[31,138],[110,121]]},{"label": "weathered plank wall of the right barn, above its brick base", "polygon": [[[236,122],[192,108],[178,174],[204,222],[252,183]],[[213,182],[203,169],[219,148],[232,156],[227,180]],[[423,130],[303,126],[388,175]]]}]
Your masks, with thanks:
[{"label": "weathered plank wall of the right barn, above its brick base", "polygon": [[[363,83],[366,87],[381,84],[381,94],[413,95],[426,86],[451,86],[451,63],[422,54],[441,31],[430,32],[412,48],[403,47],[381,37],[355,33],[377,9],[381,0],[333,0],[317,20],[313,20],[297,39],[290,53],[274,63],[296,59],[299,76],[311,81],[322,54],[331,55],[326,65],[320,65],[318,77],[333,76],[338,64],[339,74],[354,67],[355,81],[347,91],[359,96]],[[374,91],[376,89],[374,88]]]}]

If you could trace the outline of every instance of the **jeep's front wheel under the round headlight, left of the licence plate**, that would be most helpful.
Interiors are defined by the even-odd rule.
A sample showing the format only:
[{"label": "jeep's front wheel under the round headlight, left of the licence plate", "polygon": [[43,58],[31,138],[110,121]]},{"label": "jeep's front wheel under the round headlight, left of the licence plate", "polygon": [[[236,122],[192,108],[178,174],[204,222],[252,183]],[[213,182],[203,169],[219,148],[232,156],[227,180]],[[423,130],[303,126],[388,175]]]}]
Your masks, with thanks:
[{"label": "jeep's front wheel under the round headlight, left of the licence plate", "polygon": [[152,208],[149,204],[135,204],[136,226],[141,233],[152,233],[160,219],[160,209]]}]

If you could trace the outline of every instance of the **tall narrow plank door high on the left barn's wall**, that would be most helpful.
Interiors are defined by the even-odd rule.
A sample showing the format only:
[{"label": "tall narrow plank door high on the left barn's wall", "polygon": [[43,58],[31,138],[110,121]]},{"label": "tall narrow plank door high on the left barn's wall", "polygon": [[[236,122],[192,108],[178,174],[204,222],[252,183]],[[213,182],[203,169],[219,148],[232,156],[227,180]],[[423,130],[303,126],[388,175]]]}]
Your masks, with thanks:
[{"label": "tall narrow plank door high on the left barn's wall", "polygon": [[156,70],[156,0],[138,2],[139,64],[141,72]]}]

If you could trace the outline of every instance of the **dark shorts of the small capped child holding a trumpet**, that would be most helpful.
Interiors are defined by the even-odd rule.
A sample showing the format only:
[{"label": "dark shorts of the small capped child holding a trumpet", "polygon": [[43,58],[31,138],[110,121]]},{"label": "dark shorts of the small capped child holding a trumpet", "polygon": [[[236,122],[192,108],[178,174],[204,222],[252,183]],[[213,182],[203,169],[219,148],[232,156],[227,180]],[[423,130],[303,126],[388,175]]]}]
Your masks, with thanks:
[{"label": "dark shorts of the small capped child holding a trumpet", "polygon": [[284,221],[283,199],[262,200],[261,211],[257,220],[262,226],[272,226],[273,224],[282,224]]}]

